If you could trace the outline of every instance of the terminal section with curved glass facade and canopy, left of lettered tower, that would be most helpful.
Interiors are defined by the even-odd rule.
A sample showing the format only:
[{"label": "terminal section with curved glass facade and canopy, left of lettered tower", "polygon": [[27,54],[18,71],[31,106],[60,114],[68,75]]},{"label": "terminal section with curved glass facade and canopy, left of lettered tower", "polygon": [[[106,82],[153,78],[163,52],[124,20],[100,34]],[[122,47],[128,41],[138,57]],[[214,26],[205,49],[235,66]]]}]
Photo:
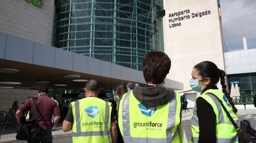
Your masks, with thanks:
[{"label": "terminal section with curved glass facade and canopy, left of lettered tower", "polygon": [[[144,54],[164,51],[162,0],[0,3],[1,111],[41,87],[59,101],[81,99],[90,79],[100,82],[100,96],[109,100],[120,82],[145,83]],[[165,85],[183,90],[171,79]]]}]

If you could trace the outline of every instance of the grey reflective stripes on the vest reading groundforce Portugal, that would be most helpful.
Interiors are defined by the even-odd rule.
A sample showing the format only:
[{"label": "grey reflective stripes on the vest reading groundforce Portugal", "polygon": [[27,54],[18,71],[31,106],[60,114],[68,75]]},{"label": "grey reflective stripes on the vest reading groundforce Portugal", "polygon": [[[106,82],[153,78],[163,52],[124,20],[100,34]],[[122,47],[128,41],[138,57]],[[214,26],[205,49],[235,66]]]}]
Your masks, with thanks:
[{"label": "grey reflective stripes on the vest reading groundforce Portugal", "polygon": [[109,107],[110,106],[108,105],[108,101],[105,101],[105,103],[106,103],[106,110],[105,110],[105,121],[104,121],[105,128],[104,128],[104,131],[81,132],[79,100],[75,101],[75,119],[76,119],[76,129],[77,129],[77,132],[72,132],[73,137],[109,135],[108,119],[109,119]]}]

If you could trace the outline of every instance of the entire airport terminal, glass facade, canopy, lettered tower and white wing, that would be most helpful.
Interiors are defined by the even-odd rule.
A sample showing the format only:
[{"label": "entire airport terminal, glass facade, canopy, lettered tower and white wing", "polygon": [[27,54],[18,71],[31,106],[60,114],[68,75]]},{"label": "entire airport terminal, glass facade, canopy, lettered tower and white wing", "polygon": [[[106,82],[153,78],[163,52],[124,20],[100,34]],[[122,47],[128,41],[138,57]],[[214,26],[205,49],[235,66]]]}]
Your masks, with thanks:
[{"label": "entire airport terminal, glass facade, canopy, lettered tower and white wing", "polygon": [[[166,87],[190,90],[193,67],[208,60],[226,71],[227,85],[238,79],[241,94],[254,94],[256,49],[224,52],[220,7],[218,0],[2,0],[0,110],[41,87],[58,100],[82,98],[90,79],[109,99],[120,82],[145,83],[151,49],[172,61]],[[181,94],[193,107],[196,93]]]}]

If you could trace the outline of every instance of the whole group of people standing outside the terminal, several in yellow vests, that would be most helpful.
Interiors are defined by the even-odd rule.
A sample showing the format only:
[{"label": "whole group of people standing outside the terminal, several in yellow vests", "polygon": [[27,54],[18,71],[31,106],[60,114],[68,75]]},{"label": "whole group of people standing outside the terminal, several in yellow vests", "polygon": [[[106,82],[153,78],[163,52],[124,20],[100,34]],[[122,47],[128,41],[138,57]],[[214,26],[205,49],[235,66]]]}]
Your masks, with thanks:
[{"label": "whole group of people standing outside the terminal, several in yellow vests", "polygon": [[[110,140],[112,143],[187,142],[182,139],[181,112],[183,109],[188,110],[188,101],[183,101],[181,95],[162,85],[170,68],[171,60],[165,53],[151,51],[146,54],[143,61],[146,84],[136,86],[129,83],[125,86],[119,83],[114,88],[113,104],[97,98],[100,83],[96,80],[86,82],[86,97],[70,105],[65,99],[59,104],[56,96],[49,98],[49,91],[41,88],[36,100],[36,116],[40,127],[38,142],[52,142],[51,130],[56,128],[61,118],[64,119],[63,131],[72,130],[74,143],[107,143]],[[196,98],[191,115],[190,142],[238,143],[236,130],[231,121],[224,118],[227,115],[219,103],[223,101],[237,122],[237,109],[226,90],[225,72],[210,61],[196,64],[191,71],[192,77],[188,79],[190,87],[201,92],[201,96]],[[216,86],[219,80],[222,92]],[[32,98],[17,109],[19,123],[28,110],[29,118],[34,118]],[[60,117],[61,114],[63,117]]]}]

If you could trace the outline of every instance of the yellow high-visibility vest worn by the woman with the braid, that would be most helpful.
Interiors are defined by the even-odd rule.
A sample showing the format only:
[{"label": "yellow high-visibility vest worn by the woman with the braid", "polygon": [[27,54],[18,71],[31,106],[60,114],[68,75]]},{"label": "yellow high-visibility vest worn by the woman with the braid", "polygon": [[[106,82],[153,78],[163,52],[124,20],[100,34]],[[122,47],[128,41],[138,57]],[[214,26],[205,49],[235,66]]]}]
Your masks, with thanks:
[{"label": "yellow high-visibility vest worn by the woman with the braid", "polygon": [[[201,96],[205,99],[213,108],[216,115],[216,141],[218,143],[238,143],[238,135],[236,133],[235,127],[232,125],[227,114],[221,107],[219,101],[212,94],[216,95],[222,102],[224,106],[229,111],[233,120],[237,123],[238,118],[233,112],[233,108],[227,101],[226,96],[220,92],[218,89],[206,90]],[[196,100],[198,97],[196,97]],[[191,130],[192,130],[192,140],[190,142],[198,142],[199,140],[199,122],[196,114],[196,104],[191,114]]]}]

